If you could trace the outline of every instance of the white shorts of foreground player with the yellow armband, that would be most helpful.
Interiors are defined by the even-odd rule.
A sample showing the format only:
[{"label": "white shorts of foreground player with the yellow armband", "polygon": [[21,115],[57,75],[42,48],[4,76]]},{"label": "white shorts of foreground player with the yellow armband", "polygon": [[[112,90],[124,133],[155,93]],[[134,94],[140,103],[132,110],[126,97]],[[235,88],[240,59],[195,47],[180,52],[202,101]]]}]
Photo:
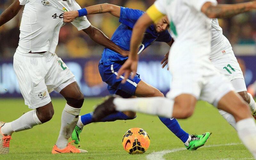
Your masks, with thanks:
[{"label": "white shorts of foreground player with the yellow armband", "polygon": [[174,60],[176,57],[171,60],[169,57],[173,79],[167,97],[174,99],[181,94],[190,94],[197,100],[207,101],[217,107],[224,95],[234,91],[232,84],[214,68],[210,60],[198,61],[191,57],[182,56],[179,60]]}]

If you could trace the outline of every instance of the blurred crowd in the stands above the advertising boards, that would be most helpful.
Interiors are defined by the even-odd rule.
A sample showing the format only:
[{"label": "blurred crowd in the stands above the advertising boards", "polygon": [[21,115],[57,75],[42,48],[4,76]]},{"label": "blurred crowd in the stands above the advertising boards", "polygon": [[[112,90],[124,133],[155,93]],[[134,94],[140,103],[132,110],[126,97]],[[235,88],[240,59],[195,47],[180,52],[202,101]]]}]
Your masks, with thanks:
[{"label": "blurred crowd in the stands above the advertising boards", "polygon": [[[0,13],[14,0],[0,0]],[[101,3],[110,3],[124,7],[145,11],[155,0],[76,0],[83,8]],[[233,4],[247,2],[246,0],[218,0],[219,3]],[[20,20],[22,10],[10,22],[0,27],[0,58],[11,59],[19,43]],[[88,20],[93,26],[103,31],[111,38],[118,27],[118,18],[105,13],[101,15],[88,15]],[[231,44],[252,44],[256,39],[256,12],[244,13],[231,19],[219,20],[223,28],[223,34],[227,36]],[[102,46],[94,43],[83,31],[78,31],[71,24],[64,25],[60,30],[59,45],[56,53],[62,58],[99,57]],[[155,43],[153,47],[145,50],[141,56],[162,54],[167,52],[168,46],[163,43]]]}]

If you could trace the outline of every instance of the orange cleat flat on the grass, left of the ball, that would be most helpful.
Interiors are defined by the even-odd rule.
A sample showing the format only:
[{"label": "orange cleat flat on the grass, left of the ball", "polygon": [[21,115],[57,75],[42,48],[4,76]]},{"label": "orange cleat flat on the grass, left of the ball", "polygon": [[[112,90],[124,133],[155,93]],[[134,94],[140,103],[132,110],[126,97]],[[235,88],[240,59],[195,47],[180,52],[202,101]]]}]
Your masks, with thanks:
[{"label": "orange cleat flat on the grass, left of the ball", "polygon": [[68,143],[68,146],[66,148],[63,149],[59,149],[56,144],[53,146],[52,148],[52,154],[58,154],[58,153],[87,153],[86,150],[84,149],[78,149],[75,146],[73,146],[71,143],[74,142],[71,141]]}]

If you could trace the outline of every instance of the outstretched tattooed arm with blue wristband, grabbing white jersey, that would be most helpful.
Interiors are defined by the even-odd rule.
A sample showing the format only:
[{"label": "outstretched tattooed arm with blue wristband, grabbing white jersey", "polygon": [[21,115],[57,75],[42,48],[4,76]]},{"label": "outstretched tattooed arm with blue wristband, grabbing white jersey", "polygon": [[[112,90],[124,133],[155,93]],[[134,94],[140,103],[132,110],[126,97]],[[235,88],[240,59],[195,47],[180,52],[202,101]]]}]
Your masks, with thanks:
[{"label": "outstretched tattooed arm with blue wristband, grabbing white jersey", "polygon": [[92,5],[78,11],[64,12],[63,21],[65,23],[73,22],[77,17],[86,16],[89,14],[100,14],[100,13],[110,13],[115,17],[120,17],[121,7],[113,4],[97,4]]}]

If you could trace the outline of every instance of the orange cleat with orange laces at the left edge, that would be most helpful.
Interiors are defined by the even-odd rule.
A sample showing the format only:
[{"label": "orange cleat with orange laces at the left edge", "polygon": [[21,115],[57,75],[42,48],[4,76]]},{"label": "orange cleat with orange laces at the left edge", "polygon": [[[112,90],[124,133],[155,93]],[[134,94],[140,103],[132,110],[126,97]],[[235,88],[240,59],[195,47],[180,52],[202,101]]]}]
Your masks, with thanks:
[{"label": "orange cleat with orange laces at the left edge", "polygon": [[[0,122],[0,130],[4,124],[5,124],[4,122]],[[0,154],[9,153],[11,139],[12,139],[11,135],[2,134],[0,132]]]}]

